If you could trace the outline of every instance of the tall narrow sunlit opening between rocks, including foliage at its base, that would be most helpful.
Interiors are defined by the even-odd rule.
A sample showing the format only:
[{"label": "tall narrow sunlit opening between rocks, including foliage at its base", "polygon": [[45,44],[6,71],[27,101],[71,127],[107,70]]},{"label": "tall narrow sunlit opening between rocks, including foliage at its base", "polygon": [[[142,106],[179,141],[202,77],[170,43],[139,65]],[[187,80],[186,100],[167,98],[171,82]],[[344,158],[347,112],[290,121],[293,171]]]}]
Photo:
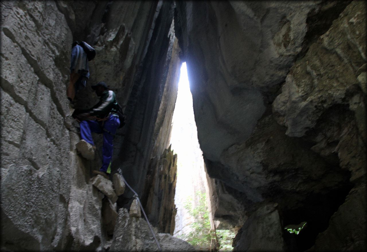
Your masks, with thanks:
[{"label": "tall narrow sunlit opening between rocks, including foliage at its base", "polygon": [[220,251],[232,251],[234,233],[229,230],[214,231],[203,152],[197,140],[192,104],[184,62],[181,66],[171,134],[172,150],[177,154],[174,236],[188,241],[197,250],[211,251],[217,247]]}]

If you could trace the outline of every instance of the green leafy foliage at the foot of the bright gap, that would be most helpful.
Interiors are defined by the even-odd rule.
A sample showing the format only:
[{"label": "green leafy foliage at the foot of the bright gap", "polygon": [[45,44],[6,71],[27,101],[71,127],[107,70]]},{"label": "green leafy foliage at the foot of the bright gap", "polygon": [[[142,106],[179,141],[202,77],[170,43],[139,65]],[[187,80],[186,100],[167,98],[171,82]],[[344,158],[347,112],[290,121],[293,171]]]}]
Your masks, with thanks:
[{"label": "green leafy foliage at the foot of the bright gap", "polygon": [[[215,231],[210,229],[209,210],[206,201],[205,192],[196,192],[199,204],[192,207],[193,199],[190,197],[185,201],[185,209],[194,217],[195,222],[190,226],[192,231],[179,237],[186,240],[197,249],[209,250],[210,246],[215,246]],[[232,251],[232,240],[235,233],[230,230],[217,230],[217,239],[219,242],[219,251]]]}]

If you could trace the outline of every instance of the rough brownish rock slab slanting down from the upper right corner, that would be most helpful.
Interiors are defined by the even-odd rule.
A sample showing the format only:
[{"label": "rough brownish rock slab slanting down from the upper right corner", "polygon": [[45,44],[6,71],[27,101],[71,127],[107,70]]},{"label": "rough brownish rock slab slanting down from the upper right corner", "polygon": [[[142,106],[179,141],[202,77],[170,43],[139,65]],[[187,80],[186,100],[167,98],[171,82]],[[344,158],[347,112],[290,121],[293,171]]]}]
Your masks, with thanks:
[{"label": "rough brownish rock slab slanting down from the upper right corner", "polygon": [[274,111],[280,114],[278,122],[287,126],[288,136],[303,136],[315,127],[327,108],[348,102],[345,97],[357,83],[356,71],[366,60],[365,35],[360,33],[366,28],[365,15],[357,12],[361,8],[361,4],[349,6],[319,42],[310,47],[308,54],[290,69],[273,104]]}]

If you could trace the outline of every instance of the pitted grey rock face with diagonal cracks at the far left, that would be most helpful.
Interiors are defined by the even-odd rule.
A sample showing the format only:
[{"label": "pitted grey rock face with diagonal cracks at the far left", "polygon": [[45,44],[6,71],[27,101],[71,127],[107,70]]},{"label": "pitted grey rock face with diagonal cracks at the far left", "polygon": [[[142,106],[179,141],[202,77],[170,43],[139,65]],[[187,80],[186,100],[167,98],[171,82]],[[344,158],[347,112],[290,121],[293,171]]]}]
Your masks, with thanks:
[{"label": "pitted grey rock face with diagonal cracks at the far left", "polygon": [[1,245],[9,249],[65,242],[75,173],[62,81],[71,42],[54,1],[1,2]]}]

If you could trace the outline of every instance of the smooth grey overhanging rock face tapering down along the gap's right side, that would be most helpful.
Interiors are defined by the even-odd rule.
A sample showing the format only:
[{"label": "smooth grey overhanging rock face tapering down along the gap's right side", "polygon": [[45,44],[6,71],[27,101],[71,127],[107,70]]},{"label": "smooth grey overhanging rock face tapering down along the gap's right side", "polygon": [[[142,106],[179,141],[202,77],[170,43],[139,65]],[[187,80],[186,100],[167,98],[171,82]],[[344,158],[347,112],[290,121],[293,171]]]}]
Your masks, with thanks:
[{"label": "smooth grey overhanging rock face tapering down along the gap's right side", "polygon": [[[190,41],[182,49],[206,158],[218,161],[225,149],[250,136],[265,112],[263,94],[286,78],[302,48],[307,14],[316,6],[315,1],[186,4],[182,29],[187,30],[178,36]],[[283,37],[289,41],[279,43]]]}]

